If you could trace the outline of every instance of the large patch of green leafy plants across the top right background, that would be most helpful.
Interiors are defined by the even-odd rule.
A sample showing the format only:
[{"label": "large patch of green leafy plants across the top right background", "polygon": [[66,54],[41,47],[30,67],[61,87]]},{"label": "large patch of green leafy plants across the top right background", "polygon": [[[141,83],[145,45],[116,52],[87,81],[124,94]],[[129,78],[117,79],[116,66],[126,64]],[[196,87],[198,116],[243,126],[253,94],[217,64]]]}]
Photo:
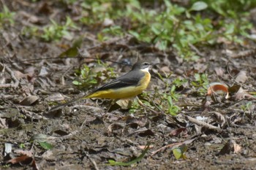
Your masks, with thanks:
[{"label": "large patch of green leafy plants across the top right background", "polygon": [[[248,30],[252,24],[247,19],[248,12],[241,9],[251,9],[255,4],[244,0],[227,0],[227,3],[225,0],[195,0],[189,6],[181,7],[164,0],[159,2],[162,9],[157,10],[143,7],[138,0],[124,4],[114,0],[86,1],[83,7],[91,17],[82,20],[89,25],[95,20],[100,23],[105,18],[114,20],[115,25],[99,29],[100,41],[110,39],[110,35],[130,34],[141,42],[154,44],[159,50],[173,47],[181,58],[197,60],[199,56],[192,46],[216,45],[223,41],[241,44],[244,38],[249,38]],[[217,15],[223,17],[214,23],[213,18]],[[128,27],[118,22],[124,18],[129,22]]]}]

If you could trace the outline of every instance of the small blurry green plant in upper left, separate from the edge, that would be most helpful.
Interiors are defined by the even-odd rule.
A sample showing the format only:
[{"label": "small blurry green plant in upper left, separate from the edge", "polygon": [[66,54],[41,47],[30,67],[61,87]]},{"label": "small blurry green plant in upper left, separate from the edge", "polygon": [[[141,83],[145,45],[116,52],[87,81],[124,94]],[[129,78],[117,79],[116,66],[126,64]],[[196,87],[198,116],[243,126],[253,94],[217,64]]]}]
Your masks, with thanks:
[{"label": "small blurry green plant in upper left, separate from the edge", "polygon": [[75,26],[75,23],[69,17],[67,17],[64,25],[56,23],[54,20],[50,20],[50,22],[51,25],[43,28],[43,33],[41,35],[41,38],[45,41],[59,40],[63,36],[70,36],[69,29],[77,29],[77,26]]}]

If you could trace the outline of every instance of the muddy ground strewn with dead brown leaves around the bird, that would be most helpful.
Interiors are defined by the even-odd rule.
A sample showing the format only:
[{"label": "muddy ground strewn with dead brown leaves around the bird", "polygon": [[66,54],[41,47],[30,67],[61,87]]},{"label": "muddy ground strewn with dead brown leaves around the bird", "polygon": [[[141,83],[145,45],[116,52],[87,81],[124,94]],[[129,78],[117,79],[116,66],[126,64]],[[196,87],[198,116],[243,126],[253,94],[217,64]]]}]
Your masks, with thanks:
[{"label": "muddy ground strewn with dead brown leaves around the bird", "polygon": [[[173,50],[164,53],[131,36],[102,43],[93,31],[80,28],[72,32],[74,37],[86,34],[79,48],[80,58],[60,58],[72,46],[69,39],[44,42],[20,34],[31,24],[31,16],[43,20],[40,24],[48,20],[38,14],[42,1],[8,5],[18,13],[15,22],[19,24],[1,29],[0,34],[1,169],[256,169],[254,42],[243,47],[201,47],[197,49],[199,60],[184,61]],[[63,14],[61,7],[49,7],[59,9],[59,17]],[[108,66],[99,66],[91,58],[100,58]],[[139,98],[155,112],[135,104],[131,113],[115,104],[105,113],[110,103],[105,99],[86,99],[48,112],[128,72],[131,67],[124,64],[137,60],[153,64],[151,83]],[[102,72],[97,77],[99,84],[87,88],[72,84],[78,79],[75,70],[83,64]],[[113,75],[109,75],[110,66]],[[206,96],[207,90],[192,84],[196,73],[206,73],[209,83],[232,88],[229,96]],[[170,93],[177,77],[187,82],[175,90],[179,97],[173,102],[181,110],[173,116],[168,114],[167,98],[161,95]],[[52,148],[43,148],[36,141]],[[6,144],[12,145],[7,155]],[[138,158],[147,144],[150,148],[138,163],[107,165],[109,160]],[[177,160],[173,149],[184,146],[186,158]],[[10,155],[13,164],[7,163]],[[20,165],[17,158],[24,155],[25,159],[33,158],[36,166]]]}]

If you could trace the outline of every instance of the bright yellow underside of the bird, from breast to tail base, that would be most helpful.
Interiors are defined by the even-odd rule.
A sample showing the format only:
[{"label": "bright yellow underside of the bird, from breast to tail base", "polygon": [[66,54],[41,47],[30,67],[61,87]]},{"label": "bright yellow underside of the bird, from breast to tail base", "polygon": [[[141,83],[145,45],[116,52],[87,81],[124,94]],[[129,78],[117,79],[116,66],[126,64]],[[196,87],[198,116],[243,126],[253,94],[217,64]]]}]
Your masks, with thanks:
[{"label": "bright yellow underside of the bird, from breast to tail base", "polygon": [[143,80],[140,80],[139,85],[137,86],[129,86],[126,88],[119,89],[110,89],[110,90],[102,90],[92,93],[86,98],[110,98],[110,99],[121,99],[121,98],[132,98],[142,93],[148,87],[148,83],[150,82],[151,75],[146,72]]}]

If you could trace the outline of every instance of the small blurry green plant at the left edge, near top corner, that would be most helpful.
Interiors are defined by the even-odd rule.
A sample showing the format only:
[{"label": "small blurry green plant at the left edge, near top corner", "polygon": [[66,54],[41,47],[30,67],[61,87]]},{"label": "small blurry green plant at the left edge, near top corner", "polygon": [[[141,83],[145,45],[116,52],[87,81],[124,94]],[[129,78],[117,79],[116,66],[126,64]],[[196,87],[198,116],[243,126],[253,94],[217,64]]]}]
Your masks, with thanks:
[{"label": "small blurry green plant at the left edge, near top corner", "polygon": [[15,12],[10,12],[7,6],[3,6],[3,9],[0,12],[0,26],[4,24],[14,24]]}]

